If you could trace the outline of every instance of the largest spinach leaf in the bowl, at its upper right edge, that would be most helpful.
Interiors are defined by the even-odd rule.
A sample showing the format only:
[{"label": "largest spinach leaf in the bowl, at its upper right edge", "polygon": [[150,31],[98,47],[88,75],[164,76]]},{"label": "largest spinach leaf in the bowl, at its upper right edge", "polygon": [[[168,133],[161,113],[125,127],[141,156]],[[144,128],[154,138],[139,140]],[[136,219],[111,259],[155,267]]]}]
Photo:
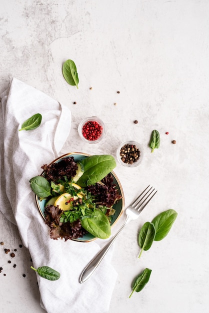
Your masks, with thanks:
[{"label": "largest spinach leaf in the bowl, at its upper right edge", "polygon": [[81,187],[96,183],[116,166],[114,157],[109,154],[88,156],[81,162],[84,172],[76,182]]}]

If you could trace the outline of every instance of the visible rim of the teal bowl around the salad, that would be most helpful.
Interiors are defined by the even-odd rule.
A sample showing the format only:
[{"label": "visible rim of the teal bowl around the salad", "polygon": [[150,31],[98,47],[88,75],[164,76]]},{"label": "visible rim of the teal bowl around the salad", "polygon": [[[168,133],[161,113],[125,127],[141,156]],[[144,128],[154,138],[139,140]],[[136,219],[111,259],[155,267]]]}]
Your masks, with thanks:
[{"label": "visible rim of the teal bowl around the salad", "polygon": [[[65,156],[70,156],[70,155],[80,155],[80,156],[91,156],[92,154],[88,154],[88,153],[84,153],[84,152],[68,152],[68,153],[64,153],[58,157],[56,157],[53,161],[51,161],[48,165],[51,165],[52,163],[55,163],[56,161],[58,161],[59,159],[65,157]],[[123,188],[122,188],[122,185],[117,177],[117,175],[115,174],[115,172],[113,170],[110,171],[110,173],[113,175],[114,179],[116,180],[118,186],[119,186],[119,191],[121,193],[121,210],[118,214],[118,216],[116,217],[116,219],[114,220],[114,222],[111,224],[111,227],[118,221],[118,219],[120,218],[120,216],[122,215],[123,211],[124,211],[124,192],[123,192]],[[42,176],[44,174],[44,170],[40,173],[40,176]],[[43,220],[45,220],[45,216],[39,206],[39,202],[38,202],[38,196],[35,194],[35,202],[36,202],[36,206],[37,206],[37,209],[40,213],[40,215],[42,216]],[[113,204],[114,205],[114,204]],[[78,241],[78,242],[90,242],[90,241],[93,241],[97,239],[97,237],[93,237],[92,239],[88,239],[88,240],[79,240],[78,238],[74,239],[70,239],[70,240],[73,240],[73,241]]]}]

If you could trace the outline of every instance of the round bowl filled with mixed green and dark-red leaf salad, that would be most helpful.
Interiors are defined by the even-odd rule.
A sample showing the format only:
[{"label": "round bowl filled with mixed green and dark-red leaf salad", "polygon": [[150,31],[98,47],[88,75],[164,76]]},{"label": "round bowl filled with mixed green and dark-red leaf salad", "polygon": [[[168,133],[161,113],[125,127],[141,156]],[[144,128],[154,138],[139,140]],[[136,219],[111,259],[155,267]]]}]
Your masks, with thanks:
[{"label": "round bowl filled with mixed green and dark-red leaf salad", "polygon": [[113,156],[66,153],[30,179],[35,200],[52,239],[105,239],[124,207]]}]

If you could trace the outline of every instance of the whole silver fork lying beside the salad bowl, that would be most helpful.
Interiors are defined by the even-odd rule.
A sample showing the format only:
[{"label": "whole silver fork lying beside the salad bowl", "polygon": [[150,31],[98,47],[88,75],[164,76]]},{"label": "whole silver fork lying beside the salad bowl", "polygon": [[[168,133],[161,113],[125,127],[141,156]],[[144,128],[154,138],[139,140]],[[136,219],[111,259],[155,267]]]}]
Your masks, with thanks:
[{"label": "whole silver fork lying beside the salad bowl", "polygon": [[[117,238],[121,230],[127,225],[127,223],[132,220],[138,218],[140,212],[142,209],[146,206],[146,204],[151,200],[151,198],[154,196],[154,194],[157,192],[157,190],[154,192],[153,187],[149,187],[148,185],[143,192],[139,194],[139,196],[134,199],[130,205],[125,209],[126,219],[122,226],[119,228],[119,230],[115,233],[114,236],[104,245],[104,247],[94,256],[94,258],[85,266],[83,271],[80,274],[79,282],[82,283],[86,281],[92,273],[95,271],[95,269],[100,264],[101,260],[103,259],[106,252],[109,250],[110,246],[114,242],[114,240]],[[147,190],[148,189],[148,190]],[[153,193],[154,192],[154,193]]]}]

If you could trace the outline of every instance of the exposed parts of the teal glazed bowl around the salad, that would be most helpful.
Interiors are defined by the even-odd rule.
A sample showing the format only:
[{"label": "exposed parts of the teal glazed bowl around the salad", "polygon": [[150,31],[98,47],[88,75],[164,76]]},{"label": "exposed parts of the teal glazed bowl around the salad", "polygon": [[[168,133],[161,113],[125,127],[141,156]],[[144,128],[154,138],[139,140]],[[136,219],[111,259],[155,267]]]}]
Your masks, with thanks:
[{"label": "exposed parts of the teal glazed bowl around the salad", "polygon": [[[50,162],[50,164],[57,163],[62,158],[65,158],[65,157],[68,157],[68,156],[73,156],[74,157],[74,161],[78,162],[78,161],[81,161],[83,158],[85,158],[87,156],[90,156],[90,154],[86,154],[86,153],[82,153],[82,152],[66,153],[66,154],[63,154],[63,155],[57,157],[55,160]],[[122,198],[117,203],[115,203],[113,205],[113,208],[115,209],[115,213],[114,213],[114,215],[112,215],[112,221],[111,221],[111,226],[113,226],[113,224],[119,219],[119,217],[121,216],[121,214],[123,212],[123,208],[124,208],[124,194],[123,194],[122,186],[121,186],[121,184],[119,182],[119,179],[117,178],[117,176],[115,175],[115,173],[113,171],[111,171],[111,175],[113,176],[113,183],[116,185],[116,188],[118,189],[118,192],[122,196]],[[41,176],[44,176],[44,171],[41,173]],[[35,195],[35,201],[36,201],[36,205],[37,205],[39,213],[41,214],[42,218],[45,220],[44,207],[45,207],[46,200],[41,200],[40,201],[38,196]],[[92,241],[94,239],[96,239],[96,237],[94,237],[90,233],[86,233],[83,237],[79,237],[79,238],[71,239],[71,240],[80,241],[80,242],[89,242],[89,241]]]}]

